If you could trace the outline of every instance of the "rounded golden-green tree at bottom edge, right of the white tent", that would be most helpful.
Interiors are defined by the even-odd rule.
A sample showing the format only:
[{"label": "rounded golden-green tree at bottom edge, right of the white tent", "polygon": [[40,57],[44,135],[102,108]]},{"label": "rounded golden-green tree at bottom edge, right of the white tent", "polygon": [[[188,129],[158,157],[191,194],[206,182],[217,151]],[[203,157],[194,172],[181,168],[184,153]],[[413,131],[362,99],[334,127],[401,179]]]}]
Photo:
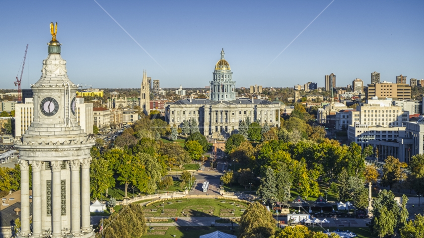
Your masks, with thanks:
[{"label": "rounded golden-green tree at bottom edge, right of the white tent", "polygon": [[249,238],[255,235],[262,235],[264,238],[272,237],[275,233],[275,226],[272,214],[259,202],[255,202],[241,215],[239,238]]}]

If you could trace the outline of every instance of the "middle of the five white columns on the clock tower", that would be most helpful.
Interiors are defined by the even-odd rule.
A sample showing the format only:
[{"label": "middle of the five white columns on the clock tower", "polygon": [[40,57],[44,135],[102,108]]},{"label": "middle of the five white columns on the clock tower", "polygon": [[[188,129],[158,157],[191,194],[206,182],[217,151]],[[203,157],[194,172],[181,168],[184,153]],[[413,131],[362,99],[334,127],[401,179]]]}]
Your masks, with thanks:
[{"label": "middle of the five white columns on the clock tower", "polygon": [[61,170],[62,161],[52,161],[52,235],[62,237],[62,198]]}]

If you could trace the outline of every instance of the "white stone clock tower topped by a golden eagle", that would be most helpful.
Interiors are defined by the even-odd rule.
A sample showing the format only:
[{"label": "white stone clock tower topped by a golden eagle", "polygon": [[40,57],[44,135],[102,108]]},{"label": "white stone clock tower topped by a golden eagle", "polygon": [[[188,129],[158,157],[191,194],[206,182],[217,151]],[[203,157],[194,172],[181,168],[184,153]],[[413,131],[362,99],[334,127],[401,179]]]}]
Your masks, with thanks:
[{"label": "white stone clock tower topped by a golden eagle", "polygon": [[66,60],[61,57],[57,23],[50,24],[50,31],[52,40],[47,43],[48,56],[43,60],[41,77],[31,85],[34,119],[22,138],[15,140],[21,170],[18,237],[90,238],[94,237],[90,225],[89,174],[94,138],[87,137],[76,120],[77,85],[69,79]]}]

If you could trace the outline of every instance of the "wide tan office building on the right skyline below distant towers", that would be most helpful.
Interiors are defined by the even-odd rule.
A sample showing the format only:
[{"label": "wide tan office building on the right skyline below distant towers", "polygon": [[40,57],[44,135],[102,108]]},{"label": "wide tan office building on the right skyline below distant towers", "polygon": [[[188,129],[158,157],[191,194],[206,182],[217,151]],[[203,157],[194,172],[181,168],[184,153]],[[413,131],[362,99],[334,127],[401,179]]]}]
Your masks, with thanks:
[{"label": "wide tan office building on the right skyline below distant towers", "polygon": [[368,84],[365,91],[366,99],[373,97],[392,98],[393,100],[411,99],[411,86],[408,84],[397,84],[382,82],[376,84]]}]

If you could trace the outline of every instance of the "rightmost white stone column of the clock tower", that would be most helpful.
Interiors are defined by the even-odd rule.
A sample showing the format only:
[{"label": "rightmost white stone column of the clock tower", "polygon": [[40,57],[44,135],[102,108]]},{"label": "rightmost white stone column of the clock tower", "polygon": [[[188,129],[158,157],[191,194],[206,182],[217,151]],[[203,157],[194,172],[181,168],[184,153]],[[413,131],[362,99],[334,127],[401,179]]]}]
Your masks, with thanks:
[{"label": "rightmost white stone column of the clock tower", "polygon": [[81,229],[90,229],[90,162],[91,158],[81,163]]}]

